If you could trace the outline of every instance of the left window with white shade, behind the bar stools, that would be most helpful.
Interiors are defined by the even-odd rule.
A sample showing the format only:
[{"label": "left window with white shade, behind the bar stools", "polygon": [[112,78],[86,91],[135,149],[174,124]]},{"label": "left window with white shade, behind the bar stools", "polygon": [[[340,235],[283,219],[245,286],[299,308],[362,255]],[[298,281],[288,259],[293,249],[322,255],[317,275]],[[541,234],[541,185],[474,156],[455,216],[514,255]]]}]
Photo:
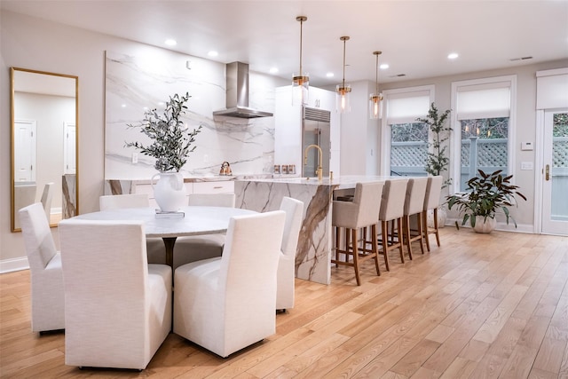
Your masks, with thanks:
[{"label": "left window with white shade, behind the bar stools", "polygon": [[425,117],[434,101],[434,86],[388,90],[383,118],[381,171],[383,175],[426,176],[428,125]]}]

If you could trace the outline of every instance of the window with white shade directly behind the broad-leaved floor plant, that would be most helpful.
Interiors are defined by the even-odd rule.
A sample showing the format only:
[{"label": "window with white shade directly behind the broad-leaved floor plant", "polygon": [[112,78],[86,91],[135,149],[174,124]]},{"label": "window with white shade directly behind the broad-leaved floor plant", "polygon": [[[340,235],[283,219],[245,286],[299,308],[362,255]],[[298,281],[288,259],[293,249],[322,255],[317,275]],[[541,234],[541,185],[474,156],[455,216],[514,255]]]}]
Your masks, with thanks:
[{"label": "window with white shade directly behind the broad-leaved floor plant", "polygon": [[454,192],[477,170],[512,171],[516,83],[515,75],[452,83]]}]

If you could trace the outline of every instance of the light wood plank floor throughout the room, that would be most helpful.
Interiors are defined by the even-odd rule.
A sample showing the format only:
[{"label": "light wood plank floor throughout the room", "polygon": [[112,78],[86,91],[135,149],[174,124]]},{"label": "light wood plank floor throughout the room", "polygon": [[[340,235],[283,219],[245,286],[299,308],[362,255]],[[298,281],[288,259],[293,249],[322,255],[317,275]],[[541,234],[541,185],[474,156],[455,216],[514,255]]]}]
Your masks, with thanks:
[{"label": "light wood plank floor throughout the room", "polygon": [[29,272],[0,275],[0,377],[568,378],[568,238],[441,231],[442,247],[377,277],[296,280],[277,334],[228,359],[170,334],[145,371],[67,367],[30,329]]}]

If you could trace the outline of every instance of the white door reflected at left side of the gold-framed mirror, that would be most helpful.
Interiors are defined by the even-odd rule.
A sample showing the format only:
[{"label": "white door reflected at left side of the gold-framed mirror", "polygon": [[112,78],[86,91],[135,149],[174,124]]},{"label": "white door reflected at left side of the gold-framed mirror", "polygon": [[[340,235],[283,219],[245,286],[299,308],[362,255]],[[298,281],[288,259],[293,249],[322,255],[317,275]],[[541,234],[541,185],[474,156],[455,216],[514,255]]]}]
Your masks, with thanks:
[{"label": "white door reflected at left side of the gold-framed mirror", "polygon": [[14,181],[36,181],[36,122],[14,122]]}]

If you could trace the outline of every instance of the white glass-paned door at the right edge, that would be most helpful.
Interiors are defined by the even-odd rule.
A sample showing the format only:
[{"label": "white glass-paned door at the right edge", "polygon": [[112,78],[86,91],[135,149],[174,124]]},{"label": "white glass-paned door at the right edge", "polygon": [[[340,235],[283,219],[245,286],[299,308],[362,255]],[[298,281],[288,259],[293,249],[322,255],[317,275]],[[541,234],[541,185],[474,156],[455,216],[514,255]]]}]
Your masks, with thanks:
[{"label": "white glass-paned door at the right edge", "polygon": [[542,233],[568,235],[568,109],[544,114]]}]

